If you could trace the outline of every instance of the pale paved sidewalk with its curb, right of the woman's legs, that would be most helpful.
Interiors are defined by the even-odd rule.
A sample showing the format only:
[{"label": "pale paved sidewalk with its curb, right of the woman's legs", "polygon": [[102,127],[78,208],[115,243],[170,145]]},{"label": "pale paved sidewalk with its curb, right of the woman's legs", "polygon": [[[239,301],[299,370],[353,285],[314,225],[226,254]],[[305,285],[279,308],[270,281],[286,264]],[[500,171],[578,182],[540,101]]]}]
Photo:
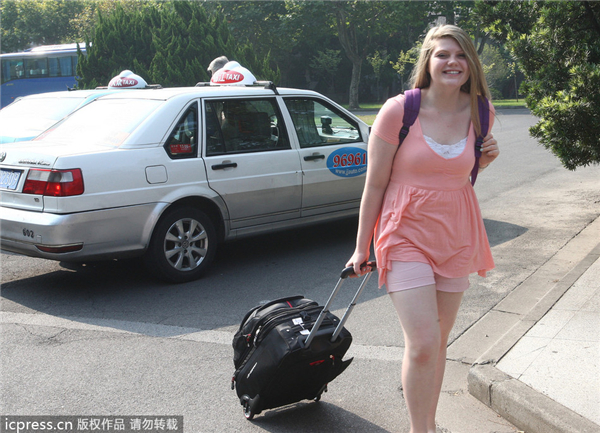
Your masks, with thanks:
[{"label": "pale paved sidewalk with its curb, right of the woman's legs", "polygon": [[599,241],[600,218],[450,347],[492,337],[469,392],[525,433],[600,432]]}]

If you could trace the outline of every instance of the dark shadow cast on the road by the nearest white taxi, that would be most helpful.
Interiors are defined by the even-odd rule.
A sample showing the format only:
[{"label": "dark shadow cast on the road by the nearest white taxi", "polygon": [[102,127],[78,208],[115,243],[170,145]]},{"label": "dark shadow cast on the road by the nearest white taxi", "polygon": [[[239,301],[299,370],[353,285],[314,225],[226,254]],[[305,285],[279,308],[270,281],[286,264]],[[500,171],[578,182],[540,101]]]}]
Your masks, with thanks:
[{"label": "dark shadow cast on the road by the nearest white taxi", "polygon": [[[485,220],[485,225],[492,246],[527,231],[501,221]],[[356,229],[356,219],[347,219],[231,242],[219,249],[203,278],[185,284],[154,279],[141,260],[61,269],[3,284],[2,309],[152,336],[190,329],[231,331],[250,308],[266,300],[301,294],[325,303],[354,250]],[[346,282],[332,310],[345,308],[357,286],[357,280]],[[359,303],[384,295],[372,278]]]}]

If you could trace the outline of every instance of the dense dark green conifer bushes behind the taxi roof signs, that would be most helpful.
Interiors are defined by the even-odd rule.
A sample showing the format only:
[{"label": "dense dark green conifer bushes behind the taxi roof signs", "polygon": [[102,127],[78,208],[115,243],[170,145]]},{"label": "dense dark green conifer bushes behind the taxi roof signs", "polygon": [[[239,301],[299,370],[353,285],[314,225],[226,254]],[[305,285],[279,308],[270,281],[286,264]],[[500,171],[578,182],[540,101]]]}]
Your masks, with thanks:
[{"label": "dense dark green conifer bushes behind the taxi roof signs", "polygon": [[106,85],[124,69],[163,87],[193,86],[210,79],[206,68],[221,55],[259,80],[278,78],[268,56],[258,59],[249,44],[236,42],[224,18],[208,13],[202,3],[148,1],[135,9],[115,3],[108,15],[99,13],[87,56],[80,56],[81,88]]}]

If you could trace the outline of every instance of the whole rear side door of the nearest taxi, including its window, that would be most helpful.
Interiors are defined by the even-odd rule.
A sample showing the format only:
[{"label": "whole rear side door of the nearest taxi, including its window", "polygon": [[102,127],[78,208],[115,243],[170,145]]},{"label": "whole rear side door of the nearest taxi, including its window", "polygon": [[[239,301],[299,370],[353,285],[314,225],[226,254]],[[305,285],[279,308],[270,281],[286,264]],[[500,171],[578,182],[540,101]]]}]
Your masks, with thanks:
[{"label": "whole rear side door of the nearest taxi, including its window", "polygon": [[206,101],[205,118],[208,181],[231,229],[300,217],[302,168],[275,98]]}]

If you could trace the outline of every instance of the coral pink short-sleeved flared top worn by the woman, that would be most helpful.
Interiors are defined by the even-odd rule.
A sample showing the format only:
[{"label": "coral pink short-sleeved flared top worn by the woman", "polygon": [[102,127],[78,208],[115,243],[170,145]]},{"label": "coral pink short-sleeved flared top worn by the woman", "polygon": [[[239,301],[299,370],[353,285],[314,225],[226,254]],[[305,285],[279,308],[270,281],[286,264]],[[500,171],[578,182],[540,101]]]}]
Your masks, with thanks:
[{"label": "coral pink short-sleeved flared top worn by the woman", "polygon": [[[493,107],[490,104],[490,130]],[[398,144],[404,95],[381,108],[371,133]],[[396,153],[375,227],[379,286],[392,261],[428,263],[447,278],[477,272],[485,277],[494,260],[469,175],[475,163],[475,131],[457,157],[445,159],[426,143],[417,118]]]}]

